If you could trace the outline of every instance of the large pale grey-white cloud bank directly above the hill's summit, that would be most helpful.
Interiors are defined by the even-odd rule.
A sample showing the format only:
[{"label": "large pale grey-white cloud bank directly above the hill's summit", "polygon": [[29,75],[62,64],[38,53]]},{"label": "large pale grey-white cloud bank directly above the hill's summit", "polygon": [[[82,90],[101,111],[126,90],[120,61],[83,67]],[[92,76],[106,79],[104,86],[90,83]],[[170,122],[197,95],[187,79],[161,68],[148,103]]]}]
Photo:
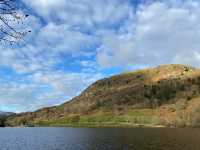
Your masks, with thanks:
[{"label": "large pale grey-white cloud bank directly above the hill's summit", "polygon": [[[200,51],[199,8],[200,4],[195,1],[141,5],[135,21],[123,27],[126,32],[111,38],[102,35],[98,62],[106,67],[161,63],[199,66],[195,55]],[[179,59],[182,56],[185,59]]]}]

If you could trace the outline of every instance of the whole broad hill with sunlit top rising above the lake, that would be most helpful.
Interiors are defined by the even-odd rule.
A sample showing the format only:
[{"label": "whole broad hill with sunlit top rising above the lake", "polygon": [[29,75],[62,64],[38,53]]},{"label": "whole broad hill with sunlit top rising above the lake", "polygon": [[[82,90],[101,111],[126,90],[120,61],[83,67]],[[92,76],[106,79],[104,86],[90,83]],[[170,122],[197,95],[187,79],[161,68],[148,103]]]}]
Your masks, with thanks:
[{"label": "whole broad hill with sunlit top rising above the lake", "polygon": [[60,106],[13,115],[6,123],[199,126],[200,70],[162,65],[112,76]]}]

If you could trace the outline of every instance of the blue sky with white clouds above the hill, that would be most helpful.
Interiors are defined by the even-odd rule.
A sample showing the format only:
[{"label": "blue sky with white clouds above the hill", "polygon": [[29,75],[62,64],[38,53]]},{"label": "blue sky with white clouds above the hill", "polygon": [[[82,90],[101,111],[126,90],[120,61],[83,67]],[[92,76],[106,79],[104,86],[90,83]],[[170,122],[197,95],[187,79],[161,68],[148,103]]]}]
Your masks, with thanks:
[{"label": "blue sky with white clouds above the hill", "polygon": [[0,110],[59,105],[98,79],[160,64],[200,67],[198,0],[20,0],[32,32],[0,44]]}]

